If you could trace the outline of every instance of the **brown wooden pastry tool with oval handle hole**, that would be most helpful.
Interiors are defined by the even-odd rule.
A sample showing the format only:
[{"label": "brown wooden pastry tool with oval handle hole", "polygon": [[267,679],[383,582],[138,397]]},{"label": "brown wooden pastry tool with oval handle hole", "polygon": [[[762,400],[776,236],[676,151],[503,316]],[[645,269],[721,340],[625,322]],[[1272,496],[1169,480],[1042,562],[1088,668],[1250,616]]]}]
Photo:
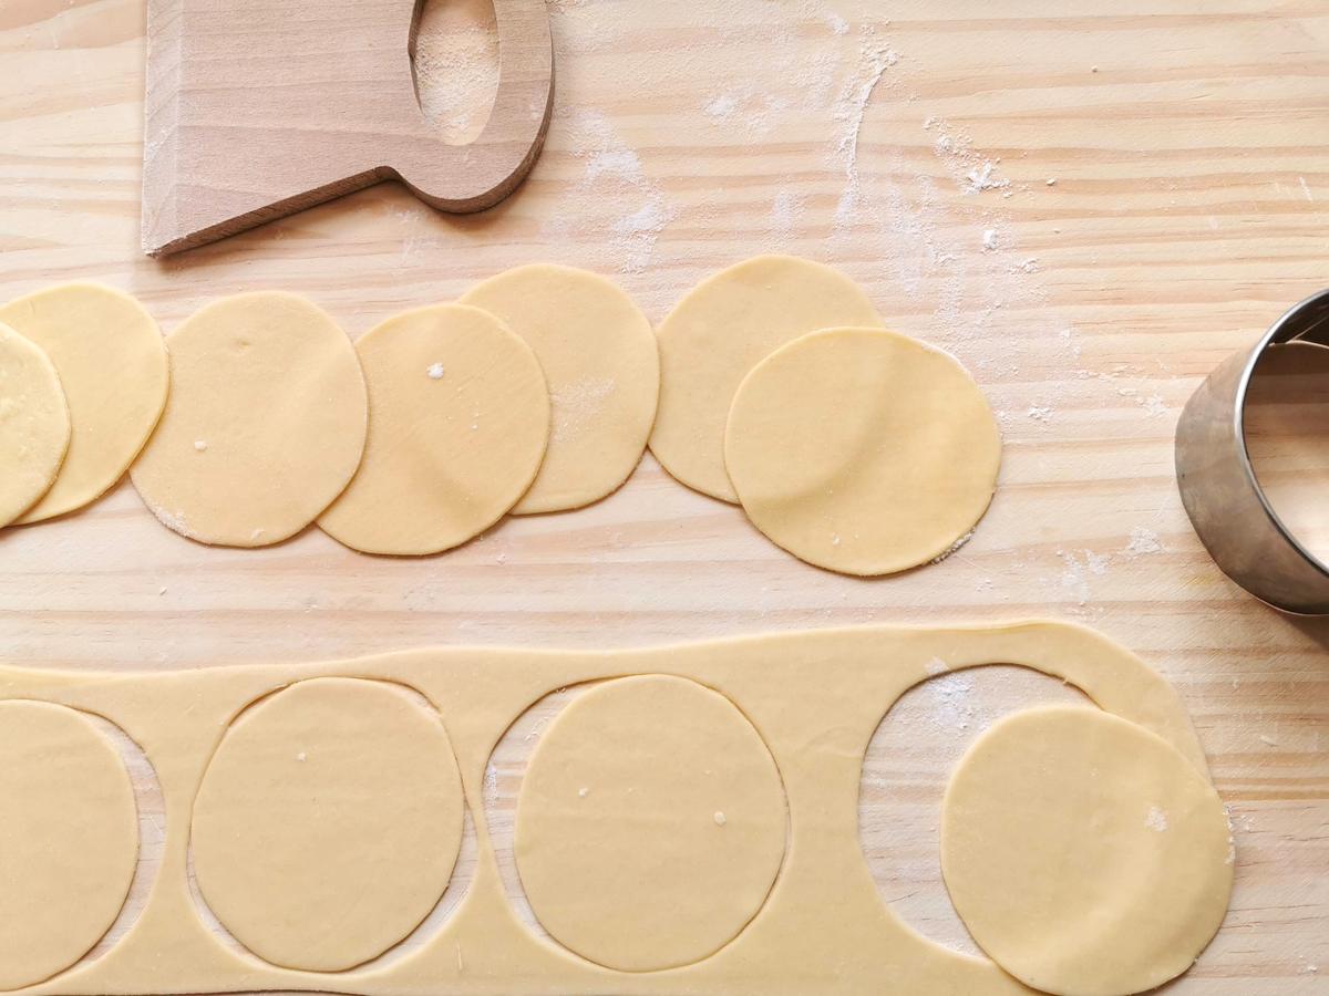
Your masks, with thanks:
[{"label": "brown wooden pastry tool with oval handle hole", "polygon": [[498,92],[452,146],[420,110],[413,0],[149,0],[144,251],[161,256],[384,179],[443,211],[530,170],[553,98],[545,0],[493,0]]}]

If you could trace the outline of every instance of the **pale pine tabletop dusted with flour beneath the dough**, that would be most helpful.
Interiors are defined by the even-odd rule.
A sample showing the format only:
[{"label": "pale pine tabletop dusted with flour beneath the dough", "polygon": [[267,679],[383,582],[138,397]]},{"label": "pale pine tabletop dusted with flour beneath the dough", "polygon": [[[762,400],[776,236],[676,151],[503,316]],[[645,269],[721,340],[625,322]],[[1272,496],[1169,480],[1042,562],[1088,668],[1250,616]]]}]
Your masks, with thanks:
[{"label": "pale pine tabletop dusted with flour beneath the dough", "polygon": [[[283,288],[360,335],[553,260],[614,276],[658,321],[707,272],[801,254],[860,280],[890,324],[954,352],[987,390],[1006,462],[973,540],[901,576],[836,576],[650,458],[591,509],[419,560],[316,530],[205,548],[122,483],[0,534],[0,655],[169,669],[431,643],[1087,623],[1177,685],[1232,813],[1231,912],[1171,991],[1329,992],[1329,620],[1278,615],[1228,582],[1172,471],[1199,380],[1329,283],[1329,7],[553,0],[552,16],[549,143],[496,210],[443,216],[387,185],[152,262],[137,250],[142,0],[4,0],[0,299],[102,280],[170,329],[218,295]],[[493,80],[484,11],[433,0],[424,31],[424,104],[464,137]],[[949,765],[1001,712],[1067,695],[993,668],[920,687],[882,724],[865,851],[930,936],[974,950],[936,859]],[[496,758],[500,835],[530,740]],[[152,833],[146,846],[150,861]]]}]

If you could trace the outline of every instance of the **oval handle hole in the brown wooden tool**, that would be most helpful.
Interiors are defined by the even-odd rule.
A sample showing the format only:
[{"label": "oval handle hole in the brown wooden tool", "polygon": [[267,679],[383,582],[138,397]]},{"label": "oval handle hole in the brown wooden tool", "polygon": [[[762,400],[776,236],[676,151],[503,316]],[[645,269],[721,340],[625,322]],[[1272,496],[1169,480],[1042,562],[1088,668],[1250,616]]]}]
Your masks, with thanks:
[{"label": "oval handle hole in the brown wooden tool", "polygon": [[493,0],[419,0],[411,69],[420,110],[443,141],[474,141],[498,93]]}]

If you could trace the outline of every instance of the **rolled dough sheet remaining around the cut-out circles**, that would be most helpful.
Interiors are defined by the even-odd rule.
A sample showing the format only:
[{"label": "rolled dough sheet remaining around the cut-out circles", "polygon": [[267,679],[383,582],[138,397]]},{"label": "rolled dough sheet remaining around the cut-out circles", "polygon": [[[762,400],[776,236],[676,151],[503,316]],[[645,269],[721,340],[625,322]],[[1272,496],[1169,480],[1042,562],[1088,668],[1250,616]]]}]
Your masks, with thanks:
[{"label": "rolled dough sheet remaining around the cut-out circles", "polygon": [[[894,701],[930,677],[938,659],[952,671],[1017,664],[1062,677],[1207,772],[1176,691],[1106,636],[1059,622],[835,628],[621,651],[424,648],[157,675],[0,668],[0,699],[44,697],[117,722],[157,766],[166,799],[162,866],[134,928],[97,963],[31,992],[1029,992],[994,964],[950,951],[900,920],[877,891],[860,846],[859,782],[868,744]],[[532,704],[581,681],[641,673],[690,677],[752,720],[785,785],[791,841],[766,907],[734,942],[692,965],[634,975],[577,959],[520,923],[504,895],[482,791],[494,745]],[[478,835],[476,878],[452,918],[421,950],[379,971],[330,976],[242,964],[193,915],[185,886],[189,809],[230,716],[318,675],[400,680],[433,703]],[[807,932],[809,924],[817,926],[816,936]]]}]

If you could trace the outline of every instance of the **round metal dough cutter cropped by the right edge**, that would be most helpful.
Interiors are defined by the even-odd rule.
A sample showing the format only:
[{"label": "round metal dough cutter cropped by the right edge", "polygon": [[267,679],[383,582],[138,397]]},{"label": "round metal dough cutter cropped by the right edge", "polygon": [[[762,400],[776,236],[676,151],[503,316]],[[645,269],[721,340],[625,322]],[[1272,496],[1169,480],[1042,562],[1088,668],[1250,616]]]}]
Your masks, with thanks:
[{"label": "round metal dough cutter cropped by the right edge", "polygon": [[1290,343],[1329,348],[1329,290],[1290,308],[1191,396],[1176,426],[1176,478],[1191,523],[1224,574],[1284,612],[1329,615],[1329,564],[1271,507],[1245,440],[1251,378],[1267,349]]}]

